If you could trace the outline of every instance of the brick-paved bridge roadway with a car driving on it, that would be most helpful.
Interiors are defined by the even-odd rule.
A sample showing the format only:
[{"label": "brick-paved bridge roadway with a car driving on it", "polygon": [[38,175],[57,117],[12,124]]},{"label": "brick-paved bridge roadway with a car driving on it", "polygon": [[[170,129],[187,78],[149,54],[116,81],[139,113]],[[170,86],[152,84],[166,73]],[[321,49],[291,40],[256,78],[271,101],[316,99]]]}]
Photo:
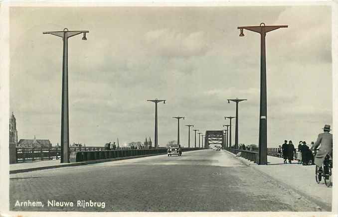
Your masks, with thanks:
[{"label": "brick-paved bridge roadway with a car driving on it", "polygon": [[[10,175],[10,210],[80,212],[316,211],[226,151],[183,152]],[[44,207],[14,207],[16,201]],[[52,208],[47,200],[74,203]],[[105,202],[81,208],[77,200]]]}]

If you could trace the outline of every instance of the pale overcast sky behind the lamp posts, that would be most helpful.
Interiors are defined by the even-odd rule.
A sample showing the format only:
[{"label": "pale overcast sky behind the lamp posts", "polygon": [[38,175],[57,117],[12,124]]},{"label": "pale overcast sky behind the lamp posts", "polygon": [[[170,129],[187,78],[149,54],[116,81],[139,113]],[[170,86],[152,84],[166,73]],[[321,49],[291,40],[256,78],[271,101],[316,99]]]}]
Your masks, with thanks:
[{"label": "pale overcast sky behind the lamp posts", "polygon": [[[89,30],[69,39],[70,142],[119,138],[159,144],[188,128],[224,129],[239,105],[239,143],[257,144],[260,36],[237,26],[289,25],[267,33],[268,146],[310,143],[332,124],[331,8],[16,7],[10,10],[10,111],[18,137],[60,142],[62,39],[43,31]],[[233,119],[233,122],[234,119]],[[233,124],[233,143],[234,143]],[[192,131],[193,133],[193,131]],[[191,139],[193,143],[193,136]]]}]

